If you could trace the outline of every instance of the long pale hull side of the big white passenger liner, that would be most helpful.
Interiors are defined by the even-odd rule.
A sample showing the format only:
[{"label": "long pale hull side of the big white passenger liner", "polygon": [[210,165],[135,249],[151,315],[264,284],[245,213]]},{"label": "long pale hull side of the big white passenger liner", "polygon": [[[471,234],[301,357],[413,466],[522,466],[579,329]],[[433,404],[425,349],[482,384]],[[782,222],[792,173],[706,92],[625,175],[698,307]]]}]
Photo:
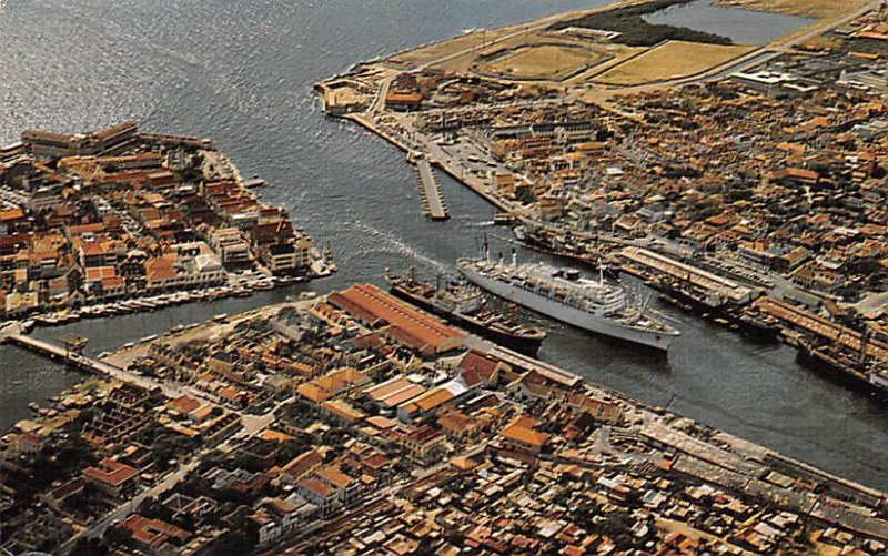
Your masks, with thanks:
[{"label": "long pale hull side of the big white passenger liner", "polygon": [[461,266],[460,270],[471,282],[500,297],[588,332],[660,351],[668,350],[673,340],[677,337],[674,334],[624,326],[610,319],[581,311],[536,293],[490,279],[470,266]]}]

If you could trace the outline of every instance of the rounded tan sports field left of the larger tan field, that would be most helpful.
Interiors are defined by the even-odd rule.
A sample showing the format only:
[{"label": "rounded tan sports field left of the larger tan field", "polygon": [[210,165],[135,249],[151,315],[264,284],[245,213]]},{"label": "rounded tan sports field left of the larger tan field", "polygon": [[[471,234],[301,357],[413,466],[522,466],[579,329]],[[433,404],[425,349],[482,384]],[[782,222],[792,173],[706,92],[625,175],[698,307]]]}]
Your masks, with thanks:
[{"label": "rounded tan sports field left of the larger tan field", "polygon": [[516,80],[557,81],[601,58],[601,54],[583,48],[539,44],[522,47],[500,58],[481,61],[477,70]]}]

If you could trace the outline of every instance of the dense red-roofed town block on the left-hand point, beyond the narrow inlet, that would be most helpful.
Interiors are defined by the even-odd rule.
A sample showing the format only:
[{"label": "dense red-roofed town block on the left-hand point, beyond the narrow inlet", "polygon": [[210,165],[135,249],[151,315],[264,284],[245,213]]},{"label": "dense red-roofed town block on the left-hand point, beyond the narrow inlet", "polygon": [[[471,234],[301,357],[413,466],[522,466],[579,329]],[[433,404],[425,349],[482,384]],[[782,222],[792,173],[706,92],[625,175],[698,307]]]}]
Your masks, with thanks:
[{"label": "dense red-roofed town block on the left-hand point, beyond the narrow inlet", "polygon": [[0,149],[0,316],[88,316],[249,295],[335,266],[206,139],[122,123]]}]

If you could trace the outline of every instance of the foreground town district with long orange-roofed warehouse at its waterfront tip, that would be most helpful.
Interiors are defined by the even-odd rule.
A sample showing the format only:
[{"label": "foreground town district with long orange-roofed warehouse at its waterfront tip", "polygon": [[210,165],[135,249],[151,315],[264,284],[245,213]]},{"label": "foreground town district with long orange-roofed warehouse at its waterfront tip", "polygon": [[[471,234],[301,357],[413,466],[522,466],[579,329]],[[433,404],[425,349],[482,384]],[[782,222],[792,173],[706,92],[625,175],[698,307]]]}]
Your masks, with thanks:
[{"label": "foreground town district with long orange-roofed warehouse at its waterfront tip", "polygon": [[99,373],[3,436],[13,553],[888,546],[885,493],[370,284],[180,327],[100,361],[9,332]]}]

